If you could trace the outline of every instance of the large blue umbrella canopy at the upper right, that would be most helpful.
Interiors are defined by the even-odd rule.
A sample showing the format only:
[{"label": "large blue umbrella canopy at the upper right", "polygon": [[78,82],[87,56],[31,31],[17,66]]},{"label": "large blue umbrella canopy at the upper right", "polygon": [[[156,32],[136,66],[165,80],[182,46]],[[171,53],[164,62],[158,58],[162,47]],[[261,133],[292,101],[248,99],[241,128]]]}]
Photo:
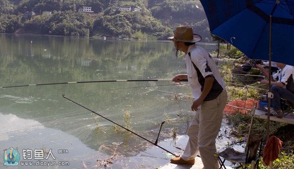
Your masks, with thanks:
[{"label": "large blue umbrella canopy at the upper right", "polygon": [[[294,0],[200,0],[210,31],[252,59],[294,65]],[[276,5],[277,4],[277,5]]]}]

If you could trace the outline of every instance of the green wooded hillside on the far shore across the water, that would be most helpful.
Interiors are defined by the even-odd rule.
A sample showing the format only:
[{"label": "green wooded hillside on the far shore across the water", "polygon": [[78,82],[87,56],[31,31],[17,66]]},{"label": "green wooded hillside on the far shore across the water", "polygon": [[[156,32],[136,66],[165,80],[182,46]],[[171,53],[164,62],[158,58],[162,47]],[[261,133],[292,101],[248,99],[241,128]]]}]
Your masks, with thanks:
[{"label": "green wooded hillside on the far shore across the water", "polygon": [[178,25],[210,40],[199,0],[0,0],[0,33],[161,40]]}]

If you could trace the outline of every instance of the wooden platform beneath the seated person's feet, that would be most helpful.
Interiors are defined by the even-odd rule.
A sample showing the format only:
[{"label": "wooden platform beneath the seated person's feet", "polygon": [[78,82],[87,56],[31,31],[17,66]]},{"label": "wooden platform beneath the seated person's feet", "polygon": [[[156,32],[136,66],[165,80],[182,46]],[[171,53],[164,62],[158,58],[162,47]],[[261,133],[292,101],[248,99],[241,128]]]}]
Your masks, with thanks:
[{"label": "wooden platform beneath the seated person's feet", "polygon": [[[256,118],[261,118],[261,119],[268,119],[268,115],[266,115],[267,112],[262,111],[262,110],[255,110],[255,114],[254,117]],[[275,116],[270,116],[270,120],[271,121],[277,121],[277,122],[282,122],[282,123],[288,123],[288,124],[294,124],[294,114],[293,113],[289,113],[287,115],[285,115],[283,118],[278,118]]]}]

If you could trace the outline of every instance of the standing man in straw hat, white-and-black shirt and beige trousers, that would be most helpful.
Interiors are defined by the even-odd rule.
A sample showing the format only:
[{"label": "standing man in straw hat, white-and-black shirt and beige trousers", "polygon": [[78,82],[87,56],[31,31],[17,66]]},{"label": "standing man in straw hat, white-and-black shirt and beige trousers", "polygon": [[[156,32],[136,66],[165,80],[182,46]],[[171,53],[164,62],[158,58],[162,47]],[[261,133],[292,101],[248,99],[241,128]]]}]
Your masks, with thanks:
[{"label": "standing man in straw hat, white-and-black shirt and beige trousers", "polygon": [[209,53],[196,46],[201,40],[193,34],[190,27],[175,28],[174,36],[169,37],[175,49],[185,53],[187,74],[176,75],[172,81],[188,81],[195,98],[191,109],[195,115],[189,126],[189,141],[180,157],[171,159],[174,164],[194,165],[195,157],[200,153],[205,169],[219,169],[216,153],[216,137],[221,128],[222,111],[227,102],[225,84],[220,72]]}]

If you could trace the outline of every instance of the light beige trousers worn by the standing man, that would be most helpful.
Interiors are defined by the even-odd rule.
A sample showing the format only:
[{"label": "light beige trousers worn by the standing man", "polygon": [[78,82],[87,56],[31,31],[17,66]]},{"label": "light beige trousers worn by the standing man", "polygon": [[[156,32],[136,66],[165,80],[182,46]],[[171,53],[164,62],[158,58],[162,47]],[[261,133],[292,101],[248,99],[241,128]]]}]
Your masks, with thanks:
[{"label": "light beige trousers worn by the standing man", "polygon": [[188,128],[189,136],[183,155],[183,160],[193,160],[199,150],[204,169],[219,169],[216,149],[216,138],[221,128],[222,112],[227,103],[227,93],[213,100],[203,102],[196,111]]}]

